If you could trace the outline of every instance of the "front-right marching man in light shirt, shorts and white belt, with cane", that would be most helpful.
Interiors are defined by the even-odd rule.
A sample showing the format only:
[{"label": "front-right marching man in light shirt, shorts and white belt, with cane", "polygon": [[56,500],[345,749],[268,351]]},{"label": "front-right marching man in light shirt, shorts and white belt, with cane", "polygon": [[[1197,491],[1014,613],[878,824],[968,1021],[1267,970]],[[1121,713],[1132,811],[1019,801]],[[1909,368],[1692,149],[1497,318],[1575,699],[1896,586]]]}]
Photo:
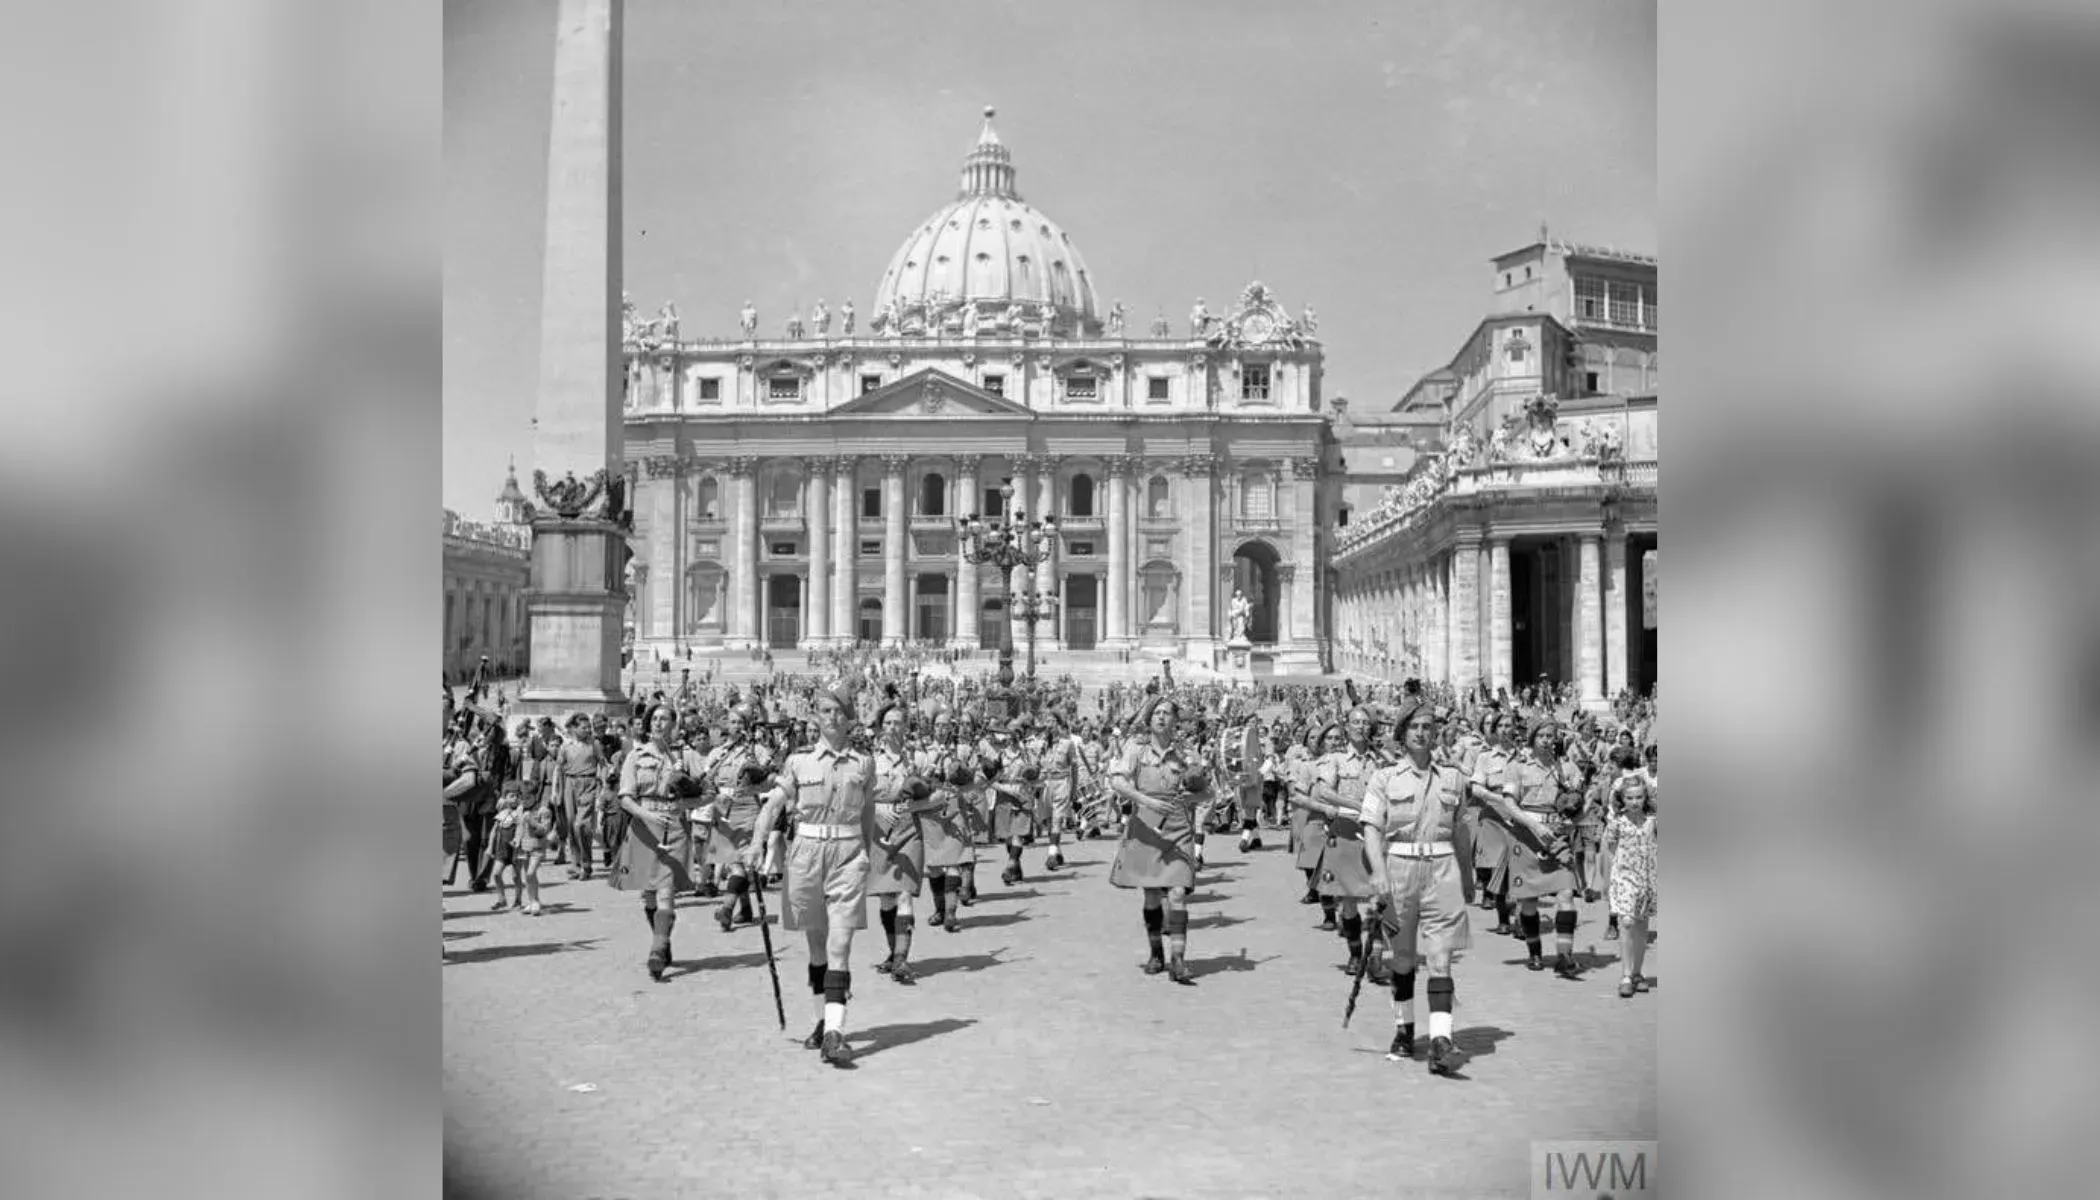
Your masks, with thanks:
[{"label": "front-right marching man in light shirt, shorts and white belt, with cane", "polygon": [[[1430,979],[1430,1072],[1451,1072],[1451,952],[1472,946],[1466,912],[1466,773],[1434,752],[1436,715],[1428,704],[1401,706],[1403,759],[1371,773],[1363,792],[1363,841],[1371,851],[1376,910],[1392,950],[1392,1061],[1415,1057],[1415,965],[1426,948]],[[1499,820],[1535,822],[1493,792],[1480,801]]]}]

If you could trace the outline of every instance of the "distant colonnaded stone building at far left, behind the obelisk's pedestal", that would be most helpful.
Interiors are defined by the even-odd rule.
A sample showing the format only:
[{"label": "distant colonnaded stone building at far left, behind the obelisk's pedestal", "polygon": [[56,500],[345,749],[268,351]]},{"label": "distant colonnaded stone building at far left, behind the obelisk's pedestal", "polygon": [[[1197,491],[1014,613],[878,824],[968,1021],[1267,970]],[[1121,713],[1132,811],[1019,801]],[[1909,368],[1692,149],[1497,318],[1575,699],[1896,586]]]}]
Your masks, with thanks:
[{"label": "distant colonnaded stone building at far left, behind the obelisk's pedestal", "polygon": [[525,586],[531,576],[531,504],[517,467],[496,496],[496,521],[468,521],[445,509],[445,681],[472,679],[481,656],[504,677],[527,662]]}]

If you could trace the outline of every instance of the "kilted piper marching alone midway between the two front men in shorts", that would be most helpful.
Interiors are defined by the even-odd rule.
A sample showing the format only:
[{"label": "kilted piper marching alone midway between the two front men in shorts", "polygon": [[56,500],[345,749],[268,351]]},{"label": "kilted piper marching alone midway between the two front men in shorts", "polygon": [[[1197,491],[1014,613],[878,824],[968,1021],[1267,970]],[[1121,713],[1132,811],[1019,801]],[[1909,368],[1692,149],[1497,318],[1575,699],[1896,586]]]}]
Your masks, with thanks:
[{"label": "kilted piper marching alone midway between the two front men in shorts", "polygon": [[[1109,788],[1130,803],[1124,841],[1115,847],[1109,883],[1144,891],[1144,939],[1151,956],[1147,975],[1168,973],[1176,984],[1195,984],[1189,973],[1189,889],[1195,887],[1195,809],[1210,792],[1195,771],[1176,731],[1180,706],[1166,696],[1138,715],[1147,736],[1132,738],[1109,771]],[[1159,935],[1168,937],[1161,956]]]}]

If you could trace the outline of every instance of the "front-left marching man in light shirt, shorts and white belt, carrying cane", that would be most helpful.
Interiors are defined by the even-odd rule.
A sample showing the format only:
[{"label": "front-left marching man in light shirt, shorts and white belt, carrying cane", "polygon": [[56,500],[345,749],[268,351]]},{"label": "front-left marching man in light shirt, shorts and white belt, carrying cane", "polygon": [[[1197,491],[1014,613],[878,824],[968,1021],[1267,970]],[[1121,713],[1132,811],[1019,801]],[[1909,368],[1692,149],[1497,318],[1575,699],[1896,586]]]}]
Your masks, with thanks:
[{"label": "front-left marching man in light shirt, shorts and white belt, carrying cane", "polygon": [[[853,933],[867,927],[867,849],[876,841],[876,761],[846,740],[853,706],[838,691],[817,694],[821,740],[788,757],[758,813],[760,828],[790,815],[794,845],[785,862],[781,929],[808,942],[808,990],[817,1028],[802,1040],[823,1061],[853,1065],[846,1047],[846,1000],[853,994]],[[758,843],[743,847],[743,866],[758,866]]]}]

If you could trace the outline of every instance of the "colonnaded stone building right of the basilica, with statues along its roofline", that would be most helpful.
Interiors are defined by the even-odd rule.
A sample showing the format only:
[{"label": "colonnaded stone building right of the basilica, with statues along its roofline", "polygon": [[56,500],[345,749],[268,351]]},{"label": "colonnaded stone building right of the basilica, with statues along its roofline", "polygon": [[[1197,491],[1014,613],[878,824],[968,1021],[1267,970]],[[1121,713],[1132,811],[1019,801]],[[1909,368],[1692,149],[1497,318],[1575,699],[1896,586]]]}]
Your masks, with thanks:
[{"label": "colonnaded stone building right of the basilica, with statues along its roofline", "polygon": [[1493,271],[1489,315],[1394,406],[1415,443],[1403,475],[1344,439],[1334,662],[1457,687],[1577,683],[1588,704],[1648,691],[1655,258],[1541,229]]}]

